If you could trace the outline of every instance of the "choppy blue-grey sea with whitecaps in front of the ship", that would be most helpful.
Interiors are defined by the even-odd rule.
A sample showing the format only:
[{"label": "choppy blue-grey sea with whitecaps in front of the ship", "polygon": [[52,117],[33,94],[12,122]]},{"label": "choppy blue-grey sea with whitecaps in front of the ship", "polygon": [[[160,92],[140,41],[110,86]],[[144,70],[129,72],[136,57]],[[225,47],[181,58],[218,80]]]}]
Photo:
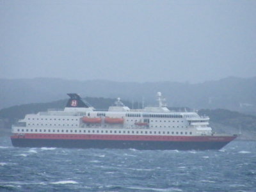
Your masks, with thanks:
[{"label": "choppy blue-grey sea with whitecaps in front of the ship", "polygon": [[14,148],[0,137],[0,191],[256,191],[256,142],[150,151]]}]

